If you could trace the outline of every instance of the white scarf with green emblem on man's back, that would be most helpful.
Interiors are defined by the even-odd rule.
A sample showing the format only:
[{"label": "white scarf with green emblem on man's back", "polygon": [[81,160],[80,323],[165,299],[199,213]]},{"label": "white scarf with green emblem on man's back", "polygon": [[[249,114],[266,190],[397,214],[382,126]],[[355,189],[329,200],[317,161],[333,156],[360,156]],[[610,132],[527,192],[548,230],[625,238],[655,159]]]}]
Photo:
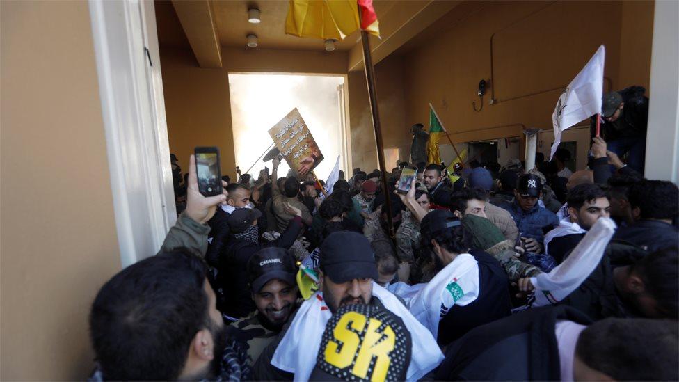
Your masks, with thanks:
[{"label": "white scarf with green emblem on man's back", "polygon": [[448,310],[476,301],[479,292],[479,263],[461,253],[410,299],[410,313],[437,338],[438,323]]}]

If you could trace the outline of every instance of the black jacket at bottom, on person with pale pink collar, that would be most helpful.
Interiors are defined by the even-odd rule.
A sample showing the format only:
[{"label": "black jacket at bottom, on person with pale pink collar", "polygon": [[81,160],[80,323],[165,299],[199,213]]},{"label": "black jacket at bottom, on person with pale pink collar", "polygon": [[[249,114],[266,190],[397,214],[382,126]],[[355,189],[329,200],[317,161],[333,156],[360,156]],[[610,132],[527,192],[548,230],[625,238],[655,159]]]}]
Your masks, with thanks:
[{"label": "black jacket at bottom, on person with pale pink collar", "polygon": [[590,324],[577,310],[544,307],[479,326],[453,342],[437,381],[560,381],[557,320]]}]

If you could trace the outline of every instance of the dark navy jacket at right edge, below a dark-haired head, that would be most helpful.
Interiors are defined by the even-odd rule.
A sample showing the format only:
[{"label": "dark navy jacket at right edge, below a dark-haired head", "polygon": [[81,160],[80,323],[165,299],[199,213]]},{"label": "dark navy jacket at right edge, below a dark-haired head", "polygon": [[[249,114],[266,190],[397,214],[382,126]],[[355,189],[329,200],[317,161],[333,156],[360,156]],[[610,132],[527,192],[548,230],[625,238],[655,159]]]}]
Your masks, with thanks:
[{"label": "dark navy jacket at right edge, below a dark-haired head", "polygon": [[679,245],[679,231],[676,225],[662,221],[641,220],[627,227],[618,228],[613,239],[628,241],[640,246],[648,253]]}]

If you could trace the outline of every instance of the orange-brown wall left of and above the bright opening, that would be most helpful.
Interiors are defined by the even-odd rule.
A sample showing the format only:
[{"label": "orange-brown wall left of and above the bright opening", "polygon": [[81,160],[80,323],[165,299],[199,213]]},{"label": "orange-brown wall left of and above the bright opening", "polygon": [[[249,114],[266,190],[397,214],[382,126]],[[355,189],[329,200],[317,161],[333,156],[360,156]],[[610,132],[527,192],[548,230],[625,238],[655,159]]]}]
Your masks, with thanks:
[{"label": "orange-brown wall left of and above the bright opening", "polygon": [[216,145],[221,150],[222,173],[232,179],[236,164],[229,72],[346,73],[347,56],[341,51],[223,48],[224,67],[202,69],[189,49],[160,50],[170,152],[177,154],[186,172],[195,146]]}]

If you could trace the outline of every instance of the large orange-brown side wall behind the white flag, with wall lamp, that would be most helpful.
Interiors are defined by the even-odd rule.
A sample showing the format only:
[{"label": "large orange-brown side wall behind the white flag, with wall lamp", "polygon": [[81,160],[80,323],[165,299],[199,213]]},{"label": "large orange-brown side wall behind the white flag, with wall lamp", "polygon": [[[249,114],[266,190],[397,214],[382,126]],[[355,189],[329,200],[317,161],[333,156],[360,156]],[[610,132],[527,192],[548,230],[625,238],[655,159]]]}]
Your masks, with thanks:
[{"label": "large orange-brown side wall behind the white flag, with wall lamp", "polygon": [[[596,22],[586,14],[598,15]],[[620,24],[619,2],[484,3],[479,12],[408,53],[406,121],[426,120],[431,102],[455,133],[454,141],[522,136],[522,126],[511,124],[551,129],[561,89],[600,44],[606,45],[605,75],[616,85]],[[490,86],[497,103],[488,104],[488,90],[477,113],[472,102],[478,109],[479,80],[490,82],[493,33]],[[534,95],[522,97],[529,94]]]}]

